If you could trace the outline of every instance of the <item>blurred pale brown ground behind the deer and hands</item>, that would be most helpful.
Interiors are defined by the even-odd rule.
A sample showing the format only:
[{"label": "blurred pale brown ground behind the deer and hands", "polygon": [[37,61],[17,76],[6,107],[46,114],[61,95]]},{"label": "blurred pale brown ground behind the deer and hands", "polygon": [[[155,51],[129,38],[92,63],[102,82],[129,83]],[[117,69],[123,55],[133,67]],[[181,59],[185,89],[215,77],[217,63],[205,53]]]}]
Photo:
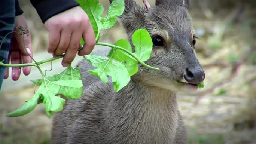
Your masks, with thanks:
[{"label": "blurred pale brown ground behind the deer and hands", "polygon": [[[141,3],[142,0],[137,0]],[[154,0],[148,0],[154,5]],[[107,0],[100,0],[106,9]],[[34,59],[46,52],[48,33],[29,0],[20,0],[33,39]],[[191,0],[189,12],[196,30],[196,51],[206,72],[205,87],[194,94],[178,94],[189,144],[256,144],[256,2],[255,0]],[[118,22],[101,42],[126,38]],[[96,47],[95,50],[103,50]],[[75,66],[80,57],[73,62]],[[51,64],[42,65],[44,70]],[[53,70],[62,71],[60,61]],[[52,118],[42,105],[22,117],[5,117],[34,94],[30,76],[4,80],[0,93],[0,144],[49,144]]]}]

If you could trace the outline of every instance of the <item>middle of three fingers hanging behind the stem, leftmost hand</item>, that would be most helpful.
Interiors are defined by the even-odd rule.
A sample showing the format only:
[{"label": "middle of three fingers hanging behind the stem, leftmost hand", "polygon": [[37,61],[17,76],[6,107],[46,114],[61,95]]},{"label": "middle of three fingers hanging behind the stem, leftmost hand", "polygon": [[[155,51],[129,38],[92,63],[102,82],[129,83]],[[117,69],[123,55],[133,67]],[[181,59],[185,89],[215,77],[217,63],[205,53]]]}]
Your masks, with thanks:
[{"label": "middle of three fingers hanging behind the stem, leftmost hand", "polygon": [[[21,64],[21,52],[13,51],[10,53],[10,60],[12,64]],[[21,75],[21,67],[12,67],[12,80],[16,81]]]}]

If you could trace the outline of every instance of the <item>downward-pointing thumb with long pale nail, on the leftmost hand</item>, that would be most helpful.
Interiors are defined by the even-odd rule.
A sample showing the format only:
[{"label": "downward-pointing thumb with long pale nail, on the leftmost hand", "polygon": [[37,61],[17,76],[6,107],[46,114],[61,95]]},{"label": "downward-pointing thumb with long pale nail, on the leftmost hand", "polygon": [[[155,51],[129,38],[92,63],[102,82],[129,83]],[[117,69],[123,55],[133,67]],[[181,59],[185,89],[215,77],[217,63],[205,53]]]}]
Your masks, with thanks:
[{"label": "downward-pointing thumb with long pale nail, on the leftmost hand", "polygon": [[14,34],[15,39],[17,40],[18,47],[21,50],[22,55],[30,55],[31,54],[31,35],[27,31],[25,34]]}]

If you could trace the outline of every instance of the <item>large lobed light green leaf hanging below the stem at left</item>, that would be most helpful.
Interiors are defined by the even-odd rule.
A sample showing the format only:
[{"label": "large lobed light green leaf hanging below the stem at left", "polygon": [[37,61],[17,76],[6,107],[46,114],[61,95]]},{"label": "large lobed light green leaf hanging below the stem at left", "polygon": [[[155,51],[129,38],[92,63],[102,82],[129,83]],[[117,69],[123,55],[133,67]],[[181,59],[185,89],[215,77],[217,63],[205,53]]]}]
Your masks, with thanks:
[{"label": "large lobed light green leaf hanging below the stem at left", "polygon": [[43,102],[47,116],[51,117],[53,111],[58,112],[63,109],[65,99],[60,98],[60,94],[70,99],[78,99],[83,94],[79,69],[71,66],[60,74],[33,80],[33,82],[40,85],[33,98],[7,116],[22,116],[32,111],[38,103]]}]

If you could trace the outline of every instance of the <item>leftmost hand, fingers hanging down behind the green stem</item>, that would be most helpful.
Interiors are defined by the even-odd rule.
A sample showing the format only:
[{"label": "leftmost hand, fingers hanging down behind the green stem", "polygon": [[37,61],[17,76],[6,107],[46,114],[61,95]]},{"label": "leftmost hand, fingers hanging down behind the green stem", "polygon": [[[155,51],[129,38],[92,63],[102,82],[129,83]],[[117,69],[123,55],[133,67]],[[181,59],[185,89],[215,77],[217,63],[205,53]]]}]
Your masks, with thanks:
[{"label": "leftmost hand, fingers hanging down behind the green stem", "polygon": [[[24,33],[18,28],[23,27]],[[31,44],[31,36],[28,30],[28,25],[26,19],[23,15],[19,15],[15,17],[15,33],[13,33],[13,37],[10,43],[10,50],[8,55],[8,61],[11,61],[12,64],[25,64],[31,63],[32,59],[32,44]],[[28,75],[30,74],[31,67],[23,67],[22,68],[23,74]],[[12,80],[18,80],[21,74],[21,67],[12,67]],[[6,72],[4,74],[4,79],[7,79],[9,75],[9,68],[6,68]]]}]

